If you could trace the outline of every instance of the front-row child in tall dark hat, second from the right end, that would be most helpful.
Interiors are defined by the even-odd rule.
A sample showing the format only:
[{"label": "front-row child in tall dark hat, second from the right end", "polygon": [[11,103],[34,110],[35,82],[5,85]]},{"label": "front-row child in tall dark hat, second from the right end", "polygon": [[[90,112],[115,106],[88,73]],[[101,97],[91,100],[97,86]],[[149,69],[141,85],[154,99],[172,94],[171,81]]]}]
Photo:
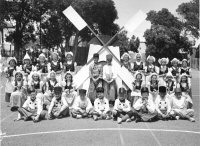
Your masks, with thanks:
[{"label": "front-row child in tall dark hat, second from the right end", "polygon": [[159,87],[159,95],[156,97],[155,105],[160,120],[168,120],[170,118],[171,104],[167,95],[165,86]]}]

